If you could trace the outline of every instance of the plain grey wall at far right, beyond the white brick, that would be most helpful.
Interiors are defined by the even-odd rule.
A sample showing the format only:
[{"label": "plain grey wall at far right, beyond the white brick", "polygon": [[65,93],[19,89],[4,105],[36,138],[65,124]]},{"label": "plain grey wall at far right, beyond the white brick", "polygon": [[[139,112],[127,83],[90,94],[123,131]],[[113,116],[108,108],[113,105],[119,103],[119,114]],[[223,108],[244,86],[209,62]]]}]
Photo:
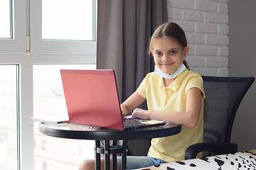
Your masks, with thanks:
[{"label": "plain grey wall at far right, beyond the white brick", "polygon": [[[256,77],[256,1],[229,2],[230,77]],[[242,99],[235,117],[231,141],[238,149],[256,149],[256,81]]]}]

